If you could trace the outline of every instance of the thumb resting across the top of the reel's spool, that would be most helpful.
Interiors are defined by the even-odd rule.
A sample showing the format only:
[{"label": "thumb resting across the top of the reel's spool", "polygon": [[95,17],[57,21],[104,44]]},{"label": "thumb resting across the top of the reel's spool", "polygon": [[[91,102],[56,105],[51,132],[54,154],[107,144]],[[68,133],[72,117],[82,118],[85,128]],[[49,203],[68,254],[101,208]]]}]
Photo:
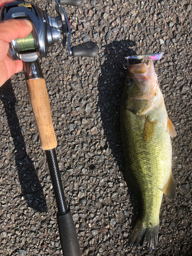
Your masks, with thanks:
[{"label": "thumb resting across the top of the reel's spool", "polygon": [[16,38],[24,38],[32,31],[29,20],[8,19],[0,23],[0,39],[11,42]]}]

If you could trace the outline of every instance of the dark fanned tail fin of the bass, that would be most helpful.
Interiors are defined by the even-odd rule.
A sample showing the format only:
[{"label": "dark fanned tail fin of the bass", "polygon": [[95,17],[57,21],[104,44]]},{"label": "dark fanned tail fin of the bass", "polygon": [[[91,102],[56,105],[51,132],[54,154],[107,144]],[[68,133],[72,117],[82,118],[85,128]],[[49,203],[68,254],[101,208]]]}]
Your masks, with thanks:
[{"label": "dark fanned tail fin of the bass", "polygon": [[143,246],[147,251],[156,249],[159,233],[159,225],[145,226],[141,220],[138,220],[134,227],[127,245],[137,247]]}]

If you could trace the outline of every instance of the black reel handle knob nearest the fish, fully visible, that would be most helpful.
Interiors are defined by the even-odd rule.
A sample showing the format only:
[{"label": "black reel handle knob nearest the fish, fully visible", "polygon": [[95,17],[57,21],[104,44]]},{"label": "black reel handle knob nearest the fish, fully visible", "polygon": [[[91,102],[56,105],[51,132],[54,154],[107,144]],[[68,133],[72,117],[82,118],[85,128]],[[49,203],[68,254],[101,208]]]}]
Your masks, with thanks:
[{"label": "black reel handle knob nearest the fish, fully visible", "polygon": [[95,57],[99,52],[99,47],[95,42],[85,42],[79,46],[71,48],[74,57]]}]

